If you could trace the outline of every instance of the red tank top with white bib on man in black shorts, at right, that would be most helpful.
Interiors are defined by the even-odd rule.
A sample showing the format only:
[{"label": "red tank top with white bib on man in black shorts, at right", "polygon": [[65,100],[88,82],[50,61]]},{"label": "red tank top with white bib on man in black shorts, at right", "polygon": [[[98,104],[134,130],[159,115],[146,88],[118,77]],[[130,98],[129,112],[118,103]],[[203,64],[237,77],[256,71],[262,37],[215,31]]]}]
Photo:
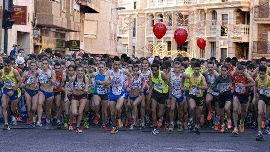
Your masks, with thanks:
[{"label": "red tank top with white bib on man in black shorts, at right", "polygon": [[232,87],[234,88],[234,92],[243,95],[249,93],[249,87],[238,87],[237,84],[248,84],[249,81],[245,76],[241,76],[239,79],[237,78],[237,72],[233,73],[233,83]]}]

